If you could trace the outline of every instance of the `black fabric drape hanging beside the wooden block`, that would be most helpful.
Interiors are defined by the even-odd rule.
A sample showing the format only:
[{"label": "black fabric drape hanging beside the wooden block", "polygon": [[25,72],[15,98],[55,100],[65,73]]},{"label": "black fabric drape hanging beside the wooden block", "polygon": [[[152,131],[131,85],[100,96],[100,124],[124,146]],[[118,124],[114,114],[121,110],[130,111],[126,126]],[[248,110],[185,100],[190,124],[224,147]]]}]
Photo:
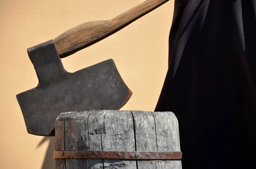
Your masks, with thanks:
[{"label": "black fabric drape hanging beside the wooden block", "polygon": [[155,111],[179,121],[183,169],[256,168],[256,0],[175,0]]}]

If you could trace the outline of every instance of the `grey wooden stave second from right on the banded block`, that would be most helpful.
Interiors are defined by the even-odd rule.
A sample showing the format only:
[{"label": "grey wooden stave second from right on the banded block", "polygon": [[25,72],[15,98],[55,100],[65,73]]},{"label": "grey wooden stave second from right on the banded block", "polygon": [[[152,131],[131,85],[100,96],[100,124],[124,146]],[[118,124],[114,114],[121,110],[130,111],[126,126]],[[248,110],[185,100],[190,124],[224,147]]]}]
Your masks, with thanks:
[{"label": "grey wooden stave second from right on the banded block", "polygon": [[[157,152],[154,117],[151,112],[132,111],[137,152]],[[155,160],[137,160],[138,169],[156,169]]]}]

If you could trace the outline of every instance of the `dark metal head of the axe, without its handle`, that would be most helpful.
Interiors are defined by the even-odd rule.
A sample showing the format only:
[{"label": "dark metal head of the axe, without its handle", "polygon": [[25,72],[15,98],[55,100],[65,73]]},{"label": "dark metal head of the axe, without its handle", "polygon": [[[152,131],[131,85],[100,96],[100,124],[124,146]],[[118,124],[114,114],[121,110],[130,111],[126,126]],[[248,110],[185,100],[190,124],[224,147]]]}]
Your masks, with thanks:
[{"label": "dark metal head of the axe, without its handle", "polygon": [[16,97],[29,134],[54,136],[62,112],[120,109],[132,95],[112,59],[70,73],[52,40],[29,48],[28,55],[39,83]]}]

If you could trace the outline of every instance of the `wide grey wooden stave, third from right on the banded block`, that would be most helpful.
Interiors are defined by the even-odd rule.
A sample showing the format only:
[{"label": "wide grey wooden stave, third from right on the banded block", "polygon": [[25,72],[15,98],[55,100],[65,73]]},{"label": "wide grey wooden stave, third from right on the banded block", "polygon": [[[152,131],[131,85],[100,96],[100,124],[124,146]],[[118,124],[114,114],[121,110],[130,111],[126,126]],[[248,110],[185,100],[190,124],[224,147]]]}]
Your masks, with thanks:
[{"label": "wide grey wooden stave, third from right on the banded block", "polygon": [[[135,151],[131,111],[107,111],[104,126],[103,151]],[[104,159],[104,169],[136,169],[136,160]]]}]

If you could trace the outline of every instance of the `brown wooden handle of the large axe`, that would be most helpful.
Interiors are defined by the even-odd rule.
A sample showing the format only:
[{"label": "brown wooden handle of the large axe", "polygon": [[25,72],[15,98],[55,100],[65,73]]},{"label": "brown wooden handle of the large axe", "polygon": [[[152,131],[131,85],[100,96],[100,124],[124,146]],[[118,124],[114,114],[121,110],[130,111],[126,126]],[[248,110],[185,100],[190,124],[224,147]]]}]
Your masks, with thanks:
[{"label": "brown wooden handle of the large axe", "polygon": [[146,0],[111,20],[82,23],[53,39],[58,55],[63,58],[114,34],[169,0]]}]

